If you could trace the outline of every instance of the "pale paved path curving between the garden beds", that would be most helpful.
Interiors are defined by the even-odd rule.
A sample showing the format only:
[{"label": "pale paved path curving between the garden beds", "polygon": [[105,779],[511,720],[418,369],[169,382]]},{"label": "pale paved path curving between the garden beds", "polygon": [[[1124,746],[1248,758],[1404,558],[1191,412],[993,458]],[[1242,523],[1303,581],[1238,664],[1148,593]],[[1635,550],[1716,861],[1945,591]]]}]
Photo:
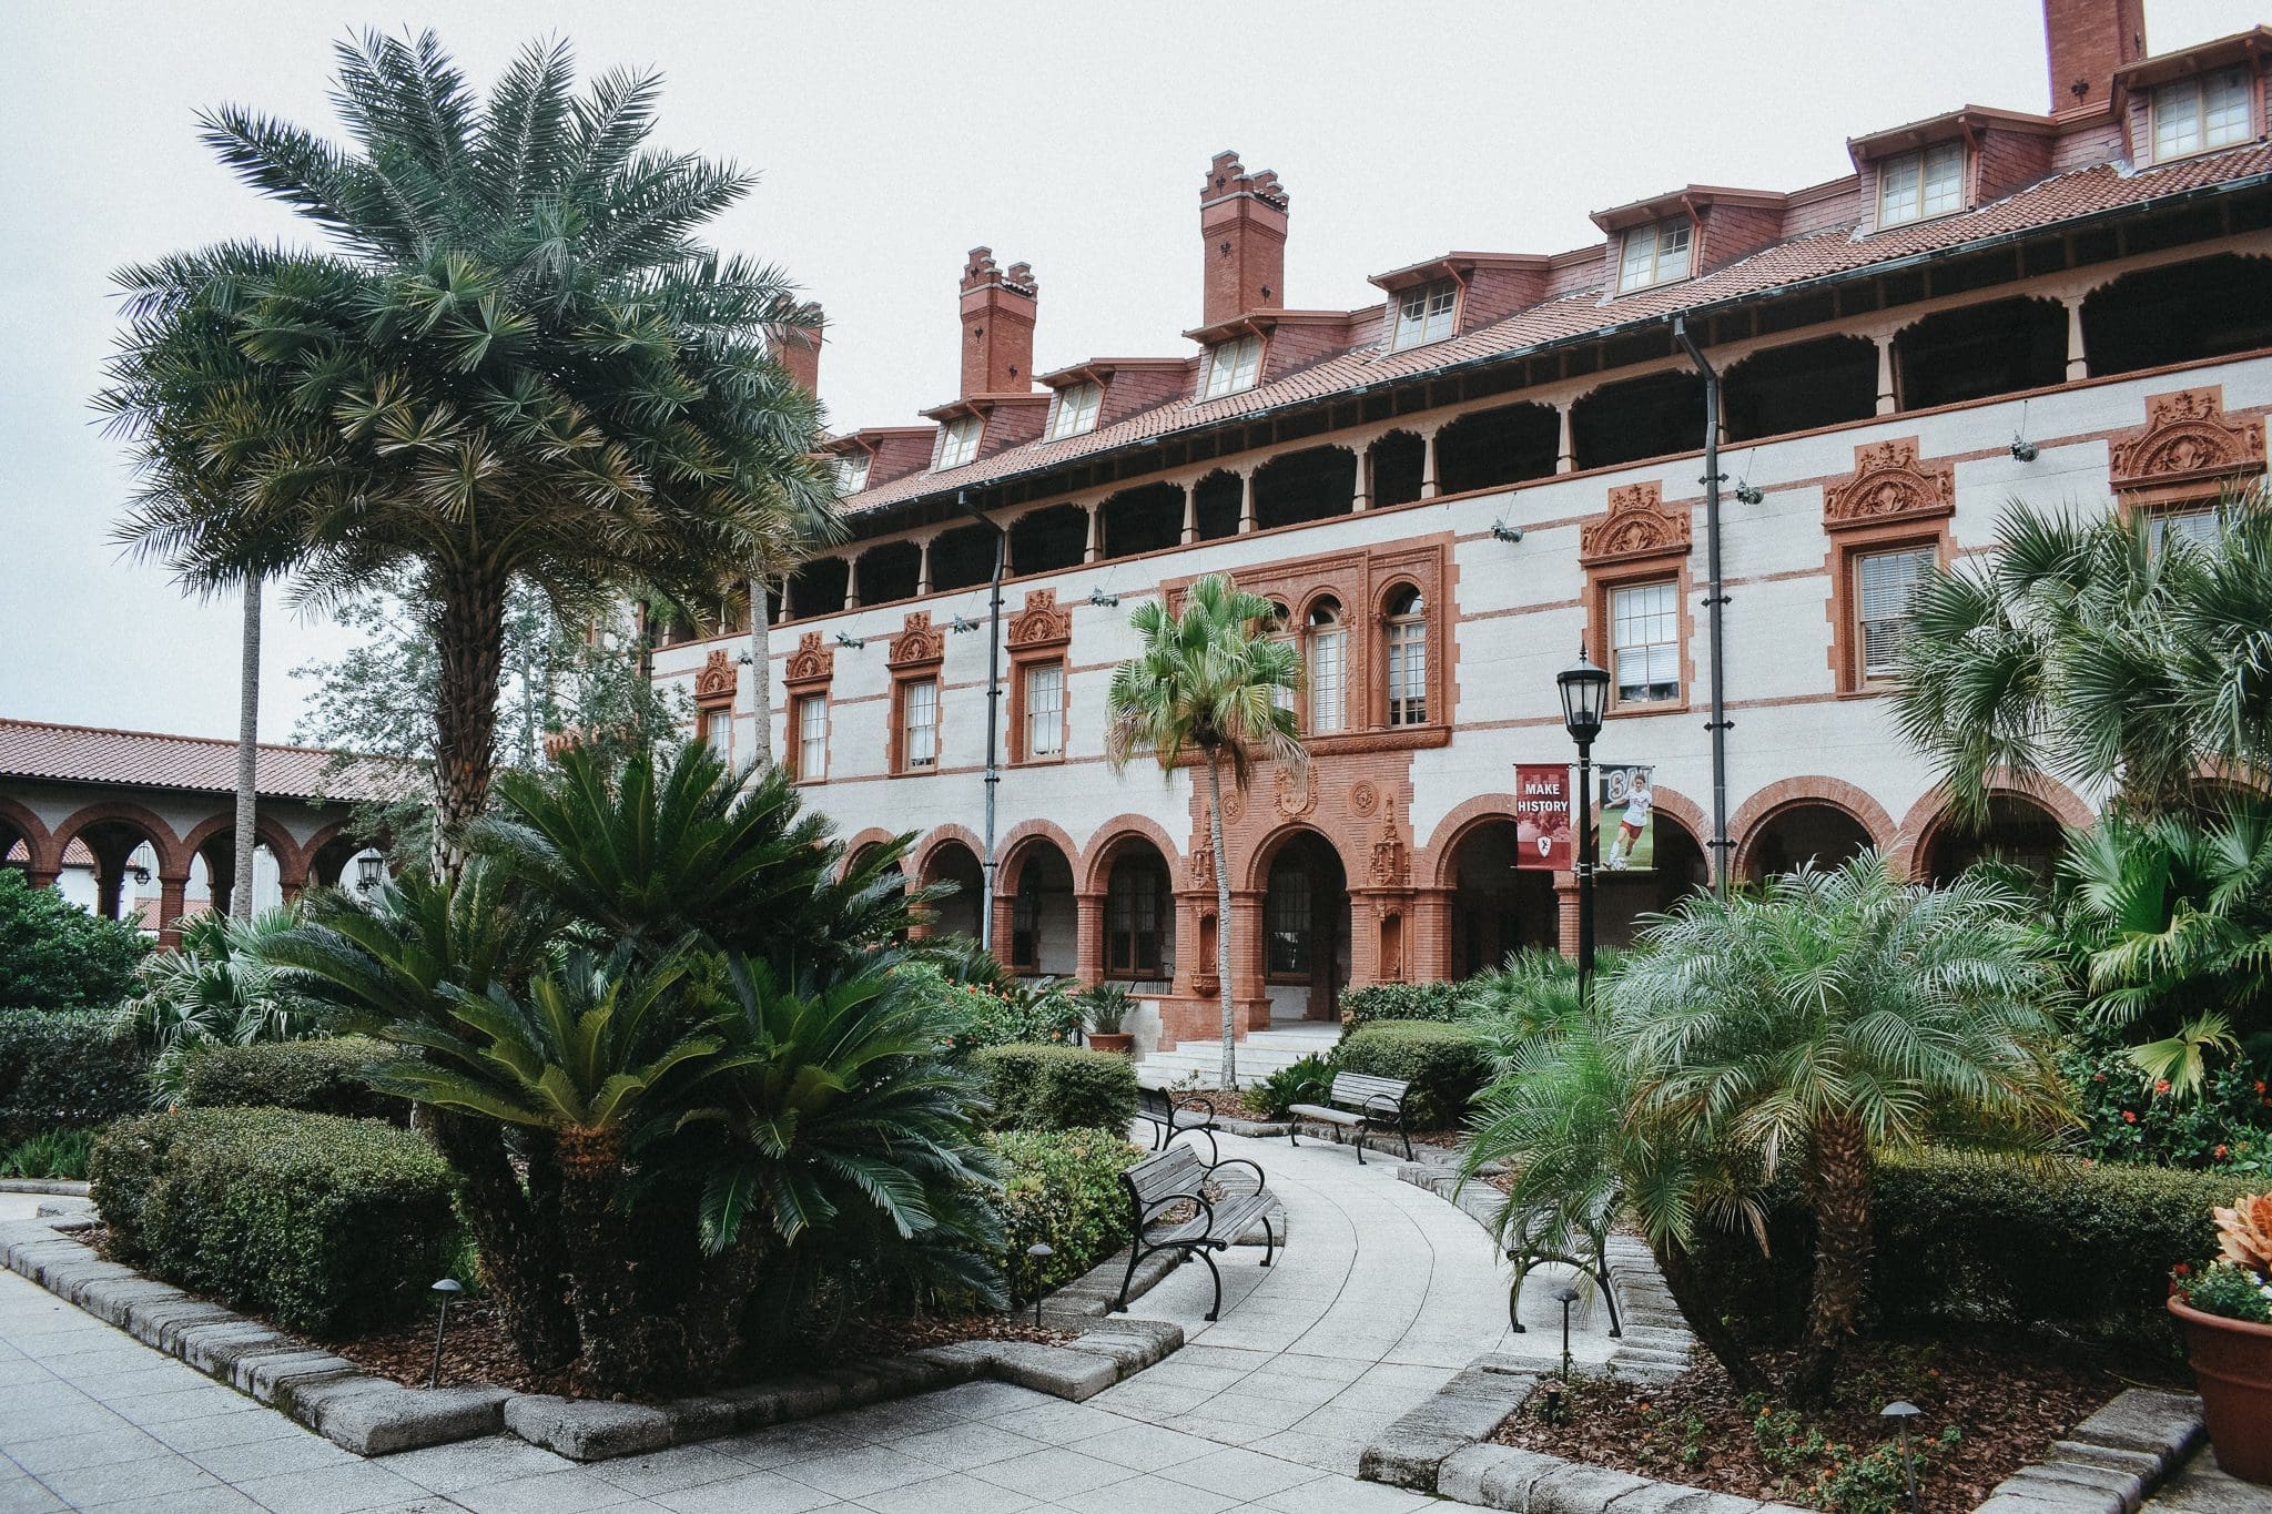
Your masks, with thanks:
[{"label": "pale paved path curving between the garden beds", "polygon": [[[511,1437],[364,1462],[282,1414],[0,1273],[0,1514],[48,1509],[473,1509],[475,1514],[1020,1514],[1277,1509],[1409,1514],[1434,1500],[1356,1482],[1365,1439],[1504,1348],[1506,1285],[1470,1219],[1336,1149],[1231,1137],[1286,1198],[1295,1244],[1206,1269],[1141,1303],[1191,1344],[1084,1403],[1000,1382],[832,1414],[650,1457],[582,1466]],[[0,1219],[36,1201],[0,1198]],[[1534,1278],[1543,1294],[1552,1280]],[[1554,1323],[1525,1289],[1525,1321]],[[1236,1303],[1229,1303],[1236,1298]],[[1527,1339],[1536,1351],[1556,1335]],[[1606,1355],[1586,1330],[1574,1348]]]}]

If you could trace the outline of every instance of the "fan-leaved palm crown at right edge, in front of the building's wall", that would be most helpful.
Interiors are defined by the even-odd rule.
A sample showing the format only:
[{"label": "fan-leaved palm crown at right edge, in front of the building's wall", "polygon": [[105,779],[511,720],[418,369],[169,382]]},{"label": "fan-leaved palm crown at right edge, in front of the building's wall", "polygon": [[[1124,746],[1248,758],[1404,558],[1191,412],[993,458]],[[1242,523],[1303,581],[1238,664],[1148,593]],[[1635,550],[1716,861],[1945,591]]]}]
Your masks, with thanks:
[{"label": "fan-leaved palm crown at right edge, in front of the building's wall", "polygon": [[1913,602],[1902,733],[1986,817],[1999,774],[2113,783],[2158,810],[2204,772],[2272,776],[2272,499],[2233,490],[2197,545],[2138,513],[2013,504],[1986,563]]}]

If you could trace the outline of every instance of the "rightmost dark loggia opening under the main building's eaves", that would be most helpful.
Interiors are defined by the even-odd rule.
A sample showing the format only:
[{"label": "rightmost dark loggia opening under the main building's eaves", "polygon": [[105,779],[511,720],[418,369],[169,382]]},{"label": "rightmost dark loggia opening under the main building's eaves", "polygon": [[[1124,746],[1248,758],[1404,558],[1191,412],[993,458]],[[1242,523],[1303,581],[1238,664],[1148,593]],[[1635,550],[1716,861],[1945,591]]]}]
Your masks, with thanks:
[{"label": "rightmost dark loggia opening under the main building's eaves", "polygon": [[2127,272],[2083,300],[2090,375],[2272,347],[2272,259],[2206,256]]}]

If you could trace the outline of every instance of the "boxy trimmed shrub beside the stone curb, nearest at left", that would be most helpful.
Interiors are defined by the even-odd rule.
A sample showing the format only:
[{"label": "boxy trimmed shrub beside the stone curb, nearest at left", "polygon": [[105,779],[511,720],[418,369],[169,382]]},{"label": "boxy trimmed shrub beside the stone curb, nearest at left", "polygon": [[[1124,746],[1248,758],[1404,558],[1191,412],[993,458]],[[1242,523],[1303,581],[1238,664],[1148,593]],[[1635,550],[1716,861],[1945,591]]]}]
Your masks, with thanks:
[{"label": "boxy trimmed shrub beside the stone curb, nearest at left", "polygon": [[350,1337],[425,1310],[459,1255],[452,1174],[411,1130],[298,1110],[179,1110],[95,1142],[111,1253],[286,1330]]}]

